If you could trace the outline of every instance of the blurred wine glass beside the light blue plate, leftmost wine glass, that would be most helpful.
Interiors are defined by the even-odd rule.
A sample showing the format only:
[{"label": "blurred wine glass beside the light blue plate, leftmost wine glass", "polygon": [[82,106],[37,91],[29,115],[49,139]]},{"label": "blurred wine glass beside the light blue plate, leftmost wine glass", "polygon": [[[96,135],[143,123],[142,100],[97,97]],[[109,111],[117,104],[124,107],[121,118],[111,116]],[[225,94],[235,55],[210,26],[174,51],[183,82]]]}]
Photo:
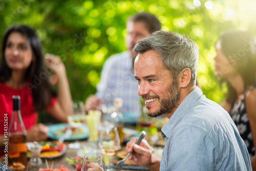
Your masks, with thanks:
[{"label": "blurred wine glass beside the light blue plate, leftmost wine glass", "polygon": [[[68,123],[71,126],[74,126],[75,134],[78,134],[78,128],[83,124],[86,123],[86,110],[84,108],[84,104],[82,101],[74,100],[72,103],[72,108],[68,114]],[[69,144],[69,148],[79,148],[80,143],[75,142]]]}]

